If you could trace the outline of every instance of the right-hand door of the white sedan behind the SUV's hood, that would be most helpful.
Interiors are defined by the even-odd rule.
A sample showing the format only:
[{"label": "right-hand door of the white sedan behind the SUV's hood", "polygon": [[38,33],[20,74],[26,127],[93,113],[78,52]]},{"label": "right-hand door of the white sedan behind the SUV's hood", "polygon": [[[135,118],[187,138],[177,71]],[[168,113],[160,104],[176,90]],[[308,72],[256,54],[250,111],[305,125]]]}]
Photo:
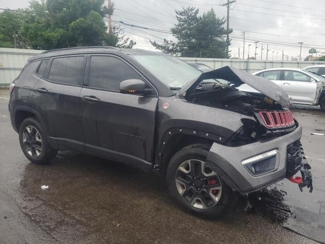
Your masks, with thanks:
[{"label": "right-hand door of the white sedan behind the SUV's hood", "polygon": [[283,70],[282,89],[294,103],[313,103],[317,92],[317,83],[309,75],[300,71]]}]

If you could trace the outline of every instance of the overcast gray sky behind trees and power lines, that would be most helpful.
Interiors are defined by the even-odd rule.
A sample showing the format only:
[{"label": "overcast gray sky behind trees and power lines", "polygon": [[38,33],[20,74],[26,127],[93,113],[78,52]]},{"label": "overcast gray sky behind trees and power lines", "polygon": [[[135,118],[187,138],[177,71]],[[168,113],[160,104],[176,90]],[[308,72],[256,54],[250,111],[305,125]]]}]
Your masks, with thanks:
[{"label": "overcast gray sky behind trees and power lines", "polygon": [[[107,1],[105,4],[107,4]],[[199,14],[214,9],[217,17],[226,18],[226,7],[220,6],[227,0],[112,0],[115,4],[113,21],[156,28],[169,32],[177,22],[175,9],[194,6]],[[28,0],[0,0],[0,8],[27,8]],[[302,44],[302,58],[315,48],[325,54],[325,1],[324,0],[236,0],[230,9],[230,35],[232,57],[254,56],[268,60],[299,58]],[[135,48],[155,50],[149,40],[162,42],[174,40],[172,34],[148,31],[125,26],[124,34],[137,42]],[[244,52],[245,32],[245,53]],[[255,42],[259,41],[257,44]],[[263,44],[263,50],[262,50]],[[250,45],[250,46],[249,46]],[[256,49],[255,49],[256,45]],[[249,53],[248,53],[249,48]],[[267,50],[269,50],[267,52]],[[315,56],[315,54],[313,54]]]}]

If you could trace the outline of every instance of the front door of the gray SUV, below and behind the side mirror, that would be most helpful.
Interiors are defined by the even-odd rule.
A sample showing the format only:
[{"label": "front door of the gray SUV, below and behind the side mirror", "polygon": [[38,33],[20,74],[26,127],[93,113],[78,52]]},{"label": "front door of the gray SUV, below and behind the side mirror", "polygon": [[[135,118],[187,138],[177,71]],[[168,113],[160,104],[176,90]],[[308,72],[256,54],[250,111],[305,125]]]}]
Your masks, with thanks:
[{"label": "front door of the gray SUV, below and behind the side mirror", "polygon": [[120,94],[127,79],[149,82],[125,60],[113,55],[91,55],[81,90],[85,148],[111,158],[152,159],[156,92],[149,96]]}]

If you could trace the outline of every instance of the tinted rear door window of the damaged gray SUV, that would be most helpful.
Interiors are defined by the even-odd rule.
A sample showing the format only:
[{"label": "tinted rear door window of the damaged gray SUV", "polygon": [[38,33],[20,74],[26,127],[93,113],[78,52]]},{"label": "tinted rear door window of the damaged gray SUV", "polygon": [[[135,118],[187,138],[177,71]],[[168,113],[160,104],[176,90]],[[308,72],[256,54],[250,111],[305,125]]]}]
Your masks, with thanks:
[{"label": "tinted rear door window of the damaged gray SUV", "polygon": [[64,84],[82,85],[84,57],[54,58],[49,72],[49,80]]}]

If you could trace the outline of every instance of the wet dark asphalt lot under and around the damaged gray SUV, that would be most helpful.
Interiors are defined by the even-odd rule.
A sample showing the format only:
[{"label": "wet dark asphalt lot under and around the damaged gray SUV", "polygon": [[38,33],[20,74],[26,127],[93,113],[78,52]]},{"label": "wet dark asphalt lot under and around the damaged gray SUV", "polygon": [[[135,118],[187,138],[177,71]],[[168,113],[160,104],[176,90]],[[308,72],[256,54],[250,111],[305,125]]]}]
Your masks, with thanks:
[{"label": "wet dark asphalt lot under and around the damaged gray SUV", "polygon": [[[73,151],[49,165],[22,154],[0,90],[0,243],[317,243],[282,227],[295,207],[324,212],[325,113],[296,107],[314,191],[284,179],[239,203],[224,218],[207,221],[184,212],[165,178]],[[41,190],[47,185],[47,190]],[[325,203],[323,203],[325,205]]]}]

